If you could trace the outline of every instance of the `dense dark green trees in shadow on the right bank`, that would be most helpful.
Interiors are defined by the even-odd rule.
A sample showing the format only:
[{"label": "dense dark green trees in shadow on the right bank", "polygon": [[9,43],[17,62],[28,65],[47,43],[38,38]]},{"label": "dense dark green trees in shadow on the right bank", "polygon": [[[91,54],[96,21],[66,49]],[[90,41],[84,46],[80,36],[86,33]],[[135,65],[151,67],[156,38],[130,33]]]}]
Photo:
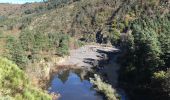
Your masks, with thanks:
[{"label": "dense dark green trees in shadow on the right bank", "polygon": [[[149,92],[148,97],[156,93],[165,95],[155,96],[154,98],[169,98],[168,91],[163,91],[167,85],[162,85],[167,78],[167,69],[170,66],[169,59],[169,40],[170,40],[170,20],[169,15],[164,17],[157,16],[150,18],[143,16],[130,23],[132,34],[128,35],[126,41],[127,59],[123,63],[121,70],[122,80],[127,82],[127,87],[137,87],[137,90],[154,91]],[[139,88],[141,86],[141,88]],[[150,89],[146,88],[149,87]],[[158,90],[154,90],[158,88]],[[132,92],[131,91],[131,92]],[[137,98],[135,98],[137,99]]]}]

